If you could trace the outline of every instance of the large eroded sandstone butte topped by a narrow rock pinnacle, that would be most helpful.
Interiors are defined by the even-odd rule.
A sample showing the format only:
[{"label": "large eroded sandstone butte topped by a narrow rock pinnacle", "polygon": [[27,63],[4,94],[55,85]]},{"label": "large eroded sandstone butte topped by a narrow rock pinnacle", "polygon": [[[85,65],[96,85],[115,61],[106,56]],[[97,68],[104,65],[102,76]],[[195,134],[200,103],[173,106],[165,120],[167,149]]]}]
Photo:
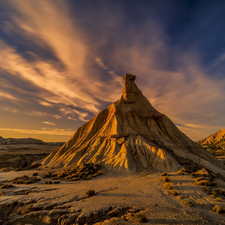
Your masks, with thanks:
[{"label": "large eroded sandstone butte topped by a narrow rock pinnacle", "polygon": [[42,167],[94,163],[110,171],[135,173],[172,172],[182,165],[197,165],[225,177],[225,166],[158,112],[135,78],[125,74],[121,98],[78,128],[44,159]]}]

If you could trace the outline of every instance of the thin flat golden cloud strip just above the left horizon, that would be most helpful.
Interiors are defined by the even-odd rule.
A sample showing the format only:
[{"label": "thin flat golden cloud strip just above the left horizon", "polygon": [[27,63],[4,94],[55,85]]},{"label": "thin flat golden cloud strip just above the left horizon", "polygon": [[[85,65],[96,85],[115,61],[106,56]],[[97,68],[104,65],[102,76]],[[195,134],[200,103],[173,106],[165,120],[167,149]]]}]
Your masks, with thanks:
[{"label": "thin flat golden cloud strip just above the left horizon", "polygon": [[64,129],[13,129],[13,128],[0,128],[0,131],[23,133],[23,134],[51,134],[51,135],[72,135],[73,131]]}]

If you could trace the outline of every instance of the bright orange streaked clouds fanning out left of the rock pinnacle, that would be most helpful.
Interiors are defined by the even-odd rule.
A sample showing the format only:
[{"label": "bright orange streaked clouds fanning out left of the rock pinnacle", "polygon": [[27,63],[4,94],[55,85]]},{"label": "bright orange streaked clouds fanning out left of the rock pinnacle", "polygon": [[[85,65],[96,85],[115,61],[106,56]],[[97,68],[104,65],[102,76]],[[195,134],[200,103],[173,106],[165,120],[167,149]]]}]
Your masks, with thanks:
[{"label": "bright orange streaked clouds fanning out left of the rock pinnacle", "polygon": [[[102,109],[101,101],[119,98],[122,78],[112,69],[108,69],[107,81],[102,80],[102,75],[93,76],[93,62],[88,57],[91,45],[87,44],[78,23],[69,16],[64,2],[11,0],[8,6],[13,13],[8,14],[7,33],[19,34],[54,55],[54,59],[46,59],[30,51],[26,53],[29,57],[24,57],[15,47],[0,41],[0,67],[35,86],[33,99],[36,97],[39,104],[71,105],[77,111],[81,108],[86,114],[96,114]],[[100,58],[97,61],[99,65],[102,62]],[[82,117],[83,112],[77,115]]]}]

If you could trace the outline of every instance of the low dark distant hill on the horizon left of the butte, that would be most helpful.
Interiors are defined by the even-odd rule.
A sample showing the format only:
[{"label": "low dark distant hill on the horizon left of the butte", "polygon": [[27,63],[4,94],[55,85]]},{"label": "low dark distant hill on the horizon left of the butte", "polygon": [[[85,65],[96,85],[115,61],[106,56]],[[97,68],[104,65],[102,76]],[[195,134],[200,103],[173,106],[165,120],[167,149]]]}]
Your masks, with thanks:
[{"label": "low dark distant hill on the horizon left of the butte", "polygon": [[35,138],[3,138],[0,136],[0,145],[14,145],[14,144],[46,144],[44,141]]}]

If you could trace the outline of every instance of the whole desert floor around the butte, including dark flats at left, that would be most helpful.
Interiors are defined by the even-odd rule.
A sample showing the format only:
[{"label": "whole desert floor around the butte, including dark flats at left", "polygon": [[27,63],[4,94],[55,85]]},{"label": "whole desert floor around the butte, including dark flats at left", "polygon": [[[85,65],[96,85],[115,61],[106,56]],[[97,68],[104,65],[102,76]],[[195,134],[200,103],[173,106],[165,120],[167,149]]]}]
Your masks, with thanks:
[{"label": "whole desert floor around the butte, including dark flats at left", "polygon": [[[225,224],[225,182],[216,179],[212,187],[199,186],[196,176],[185,170],[125,175],[101,168],[97,176],[86,179],[86,169],[86,178],[74,180],[47,176],[65,168],[18,170],[22,158],[29,166],[59,148],[0,146],[0,224],[141,224],[136,215],[144,216],[145,224]],[[221,149],[213,153],[223,161]],[[208,176],[207,171],[198,172]],[[24,182],[15,182],[16,178]],[[95,193],[87,195],[88,190]]]}]

